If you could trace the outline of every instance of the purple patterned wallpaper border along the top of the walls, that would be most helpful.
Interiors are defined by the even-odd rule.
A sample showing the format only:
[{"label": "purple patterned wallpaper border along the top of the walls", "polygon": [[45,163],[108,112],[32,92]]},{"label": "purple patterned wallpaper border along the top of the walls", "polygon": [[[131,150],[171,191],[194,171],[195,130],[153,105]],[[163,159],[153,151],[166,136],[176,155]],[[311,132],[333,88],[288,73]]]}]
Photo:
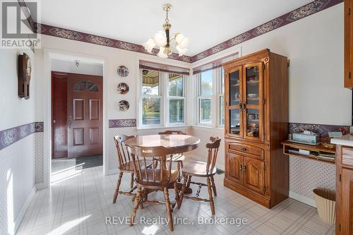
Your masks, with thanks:
[{"label": "purple patterned wallpaper border along the top of the walls", "polygon": [[[277,28],[281,28],[282,26],[285,26],[289,23],[293,23],[297,20],[301,20],[302,18],[305,18],[306,16],[311,16],[314,13],[318,13],[319,11],[323,11],[327,8],[330,8],[331,6],[335,6],[337,4],[340,4],[340,3],[342,3],[342,1],[343,0],[315,0],[315,1],[311,1],[309,4],[301,6],[297,9],[295,9],[294,11],[290,11],[289,13],[285,13],[282,16],[279,16],[273,20],[270,20],[266,23],[263,23],[262,25],[259,25],[256,28],[253,28],[251,30],[243,32],[240,35],[232,37],[231,39],[229,39],[225,42],[221,42],[220,44],[217,44],[214,47],[211,47],[210,49],[207,49],[203,52],[200,52],[194,56],[179,56],[178,54],[173,53],[168,58],[174,59],[177,61],[184,61],[187,63],[193,63],[193,62],[199,61],[201,59],[205,59],[208,56],[212,56],[213,54],[216,54],[218,52],[222,52],[223,50],[228,49],[229,47],[234,47],[237,44],[240,44],[242,42],[246,42],[248,40],[251,40],[255,37],[263,35],[267,32],[275,30]],[[23,0],[18,0],[18,2],[20,4],[24,4]],[[27,13],[27,15],[28,15],[28,13]],[[87,42],[87,43],[97,44],[97,45],[101,45],[101,46],[105,46],[105,47],[114,47],[117,49],[124,49],[124,50],[128,50],[131,52],[150,54],[140,44],[134,44],[131,42],[124,42],[124,41],[120,41],[120,40],[114,40],[114,39],[111,39],[108,37],[101,37],[101,36],[97,36],[97,35],[90,35],[85,32],[68,30],[65,28],[54,27],[52,25],[35,23],[35,22],[33,22],[32,18],[30,16],[28,17],[28,22],[30,23],[32,28],[35,29],[35,32],[43,34],[43,35],[61,37],[64,39],[76,40],[76,41],[80,41],[80,42]],[[153,49],[151,54],[154,56],[157,56],[157,49]]]}]

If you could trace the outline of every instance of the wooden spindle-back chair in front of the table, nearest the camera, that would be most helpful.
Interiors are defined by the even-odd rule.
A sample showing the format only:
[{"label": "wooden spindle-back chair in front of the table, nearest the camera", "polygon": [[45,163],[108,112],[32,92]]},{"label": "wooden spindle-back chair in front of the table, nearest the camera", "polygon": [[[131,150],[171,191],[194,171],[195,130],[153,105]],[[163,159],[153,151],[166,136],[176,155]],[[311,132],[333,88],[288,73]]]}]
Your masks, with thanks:
[{"label": "wooden spindle-back chair in front of the table, nearest the camera", "polygon": [[[172,207],[179,202],[179,190],[177,188],[179,171],[172,169],[172,157],[167,157],[167,155],[172,155],[173,152],[177,152],[177,149],[166,147],[128,146],[128,152],[131,153],[133,159],[133,169],[135,170],[135,181],[137,184],[137,194],[133,204],[130,226],[133,225],[136,211],[140,205],[143,205],[144,203],[165,204],[169,218],[169,229],[170,231],[173,231]],[[146,167],[147,162],[155,162],[156,159],[160,161],[160,168],[156,168],[155,164],[152,164],[151,168]],[[169,185],[174,185],[174,203],[170,203],[169,200]],[[165,201],[148,200],[147,196],[145,196],[148,191],[162,191],[164,193]]]}]

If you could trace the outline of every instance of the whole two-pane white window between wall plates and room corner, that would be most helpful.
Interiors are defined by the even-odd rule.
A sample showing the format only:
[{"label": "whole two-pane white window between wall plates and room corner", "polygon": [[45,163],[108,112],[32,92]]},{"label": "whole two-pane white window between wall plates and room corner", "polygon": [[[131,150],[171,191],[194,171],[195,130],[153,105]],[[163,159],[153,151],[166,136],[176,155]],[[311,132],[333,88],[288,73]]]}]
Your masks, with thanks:
[{"label": "whole two-pane white window between wall plates and room corner", "polygon": [[141,70],[140,127],[185,125],[185,77]]}]

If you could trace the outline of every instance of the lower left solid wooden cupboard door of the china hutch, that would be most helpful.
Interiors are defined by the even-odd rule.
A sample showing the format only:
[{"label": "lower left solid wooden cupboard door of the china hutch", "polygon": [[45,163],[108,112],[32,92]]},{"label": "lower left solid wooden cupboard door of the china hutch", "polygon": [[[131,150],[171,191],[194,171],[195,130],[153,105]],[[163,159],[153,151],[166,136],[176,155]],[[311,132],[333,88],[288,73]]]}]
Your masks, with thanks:
[{"label": "lower left solid wooden cupboard door of the china hutch", "polygon": [[241,155],[236,155],[232,152],[228,152],[226,159],[227,178],[231,179],[236,183],[243,184],[243,157]]}]

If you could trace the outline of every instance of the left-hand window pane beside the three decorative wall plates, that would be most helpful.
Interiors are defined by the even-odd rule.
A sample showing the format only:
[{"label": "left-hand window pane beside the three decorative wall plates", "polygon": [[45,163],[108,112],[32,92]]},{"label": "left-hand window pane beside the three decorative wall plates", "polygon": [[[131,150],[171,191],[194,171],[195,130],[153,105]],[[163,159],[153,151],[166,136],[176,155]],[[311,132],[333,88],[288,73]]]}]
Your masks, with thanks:
[{"label": "left-hand window pane beside the three decorative wall plates", "polygon": [[142,76],[142,123],[143,125],[160,124],[160,74],[148,71]]}]

